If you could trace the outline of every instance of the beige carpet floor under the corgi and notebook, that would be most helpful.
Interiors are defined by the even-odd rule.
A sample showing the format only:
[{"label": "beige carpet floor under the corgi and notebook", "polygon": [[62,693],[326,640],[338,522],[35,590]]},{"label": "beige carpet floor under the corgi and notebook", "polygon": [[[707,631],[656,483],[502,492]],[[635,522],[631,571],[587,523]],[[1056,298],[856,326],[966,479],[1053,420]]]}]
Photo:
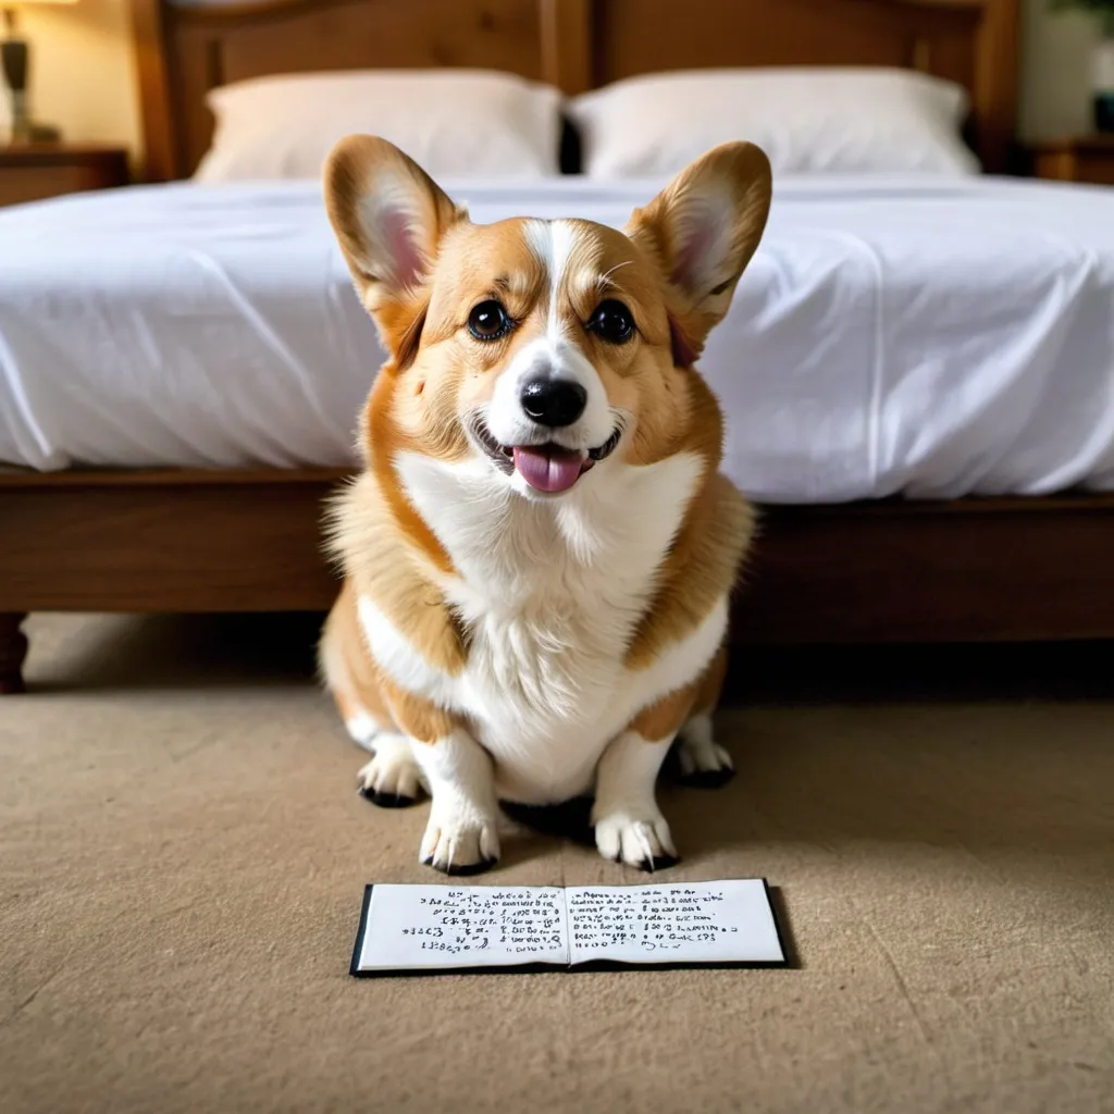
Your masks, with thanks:
[{"label": "beige carpet floor under the corgi and notebook", "polygon": [[[1108,700],[817,700],[850,658],[782,662],[722,716],[735,781],[663,799],[670,877],[768,877],[798,969],[355,980],[364,883],[432,877],[424,809],[356,797],[307,625],[29,627],[4,1114],[1114,1110]],[[540,836],[489,878],[632,880]]]}]

